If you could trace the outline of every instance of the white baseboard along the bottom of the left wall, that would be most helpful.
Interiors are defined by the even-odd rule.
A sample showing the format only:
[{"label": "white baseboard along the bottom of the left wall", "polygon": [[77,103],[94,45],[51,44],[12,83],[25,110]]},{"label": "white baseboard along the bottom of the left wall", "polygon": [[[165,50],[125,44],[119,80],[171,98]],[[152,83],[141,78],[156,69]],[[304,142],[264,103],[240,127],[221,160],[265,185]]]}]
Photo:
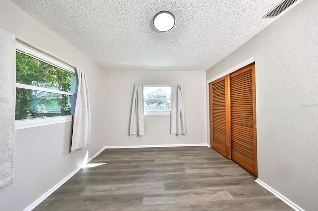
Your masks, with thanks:
[{"label": "white baseboard along the bottom of the left wall", "polygon": [[[99,150],[95,155],[90,157],[87,162],[90,162],[92,159],[94,159],[96,156],[98,156],[103,150],[105,150],[106,147],[103,147],[101,150]],[[79,166],[77,169],[72,171],[69,175],[67,175],[64,179],[62,179],[58,184],[54,185],[50,190],[48,190],[45,194],[43,194],[40,198],[35,200],[31,205],[29,205],[27,208],[25,208],[23,211],[31,211],[36,206],[38,206],[41,202],[43,202],[47,197],[49,197],[54,191],[56,191],[59,187],[61,187],[66,181],[68,181],[72,176],[74,176],[77,172],[79,172],[80,169],[82,169],[82,165]]]}]

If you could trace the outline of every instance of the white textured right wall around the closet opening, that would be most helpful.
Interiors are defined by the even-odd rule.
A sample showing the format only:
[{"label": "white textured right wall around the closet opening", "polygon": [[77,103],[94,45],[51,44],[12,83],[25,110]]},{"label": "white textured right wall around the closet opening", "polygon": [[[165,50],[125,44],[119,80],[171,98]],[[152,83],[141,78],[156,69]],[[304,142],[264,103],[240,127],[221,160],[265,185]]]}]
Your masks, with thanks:
[{"label": "white textured right wall around the closet opening", "polygon": [[304,0],[206,72],[255,55],[259,179],[318,210],[318,1]]}]

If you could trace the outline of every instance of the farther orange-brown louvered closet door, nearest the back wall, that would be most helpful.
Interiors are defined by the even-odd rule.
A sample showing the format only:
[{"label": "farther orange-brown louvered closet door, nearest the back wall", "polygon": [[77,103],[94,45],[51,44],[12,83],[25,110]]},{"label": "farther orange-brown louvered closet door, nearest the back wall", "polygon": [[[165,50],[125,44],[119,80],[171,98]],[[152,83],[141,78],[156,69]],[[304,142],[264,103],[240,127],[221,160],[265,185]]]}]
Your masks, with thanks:
[{"label": "farther orange-brown louvered closet door, nearest the back wall", "polygon": [[209,88],[211,146],[231,159],[229,75],[211,82]]}]

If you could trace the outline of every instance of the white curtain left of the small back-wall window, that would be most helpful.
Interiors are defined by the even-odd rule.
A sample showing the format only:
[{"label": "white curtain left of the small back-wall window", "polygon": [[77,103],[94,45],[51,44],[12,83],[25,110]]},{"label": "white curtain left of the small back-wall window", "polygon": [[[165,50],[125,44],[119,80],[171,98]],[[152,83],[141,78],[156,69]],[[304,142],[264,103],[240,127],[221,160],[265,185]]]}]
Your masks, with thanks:
[{"label": "white curtain left of the small back-wall window", "polygon": [[144,135],[144,87],[135,84],[130,114],[129,135]]}]

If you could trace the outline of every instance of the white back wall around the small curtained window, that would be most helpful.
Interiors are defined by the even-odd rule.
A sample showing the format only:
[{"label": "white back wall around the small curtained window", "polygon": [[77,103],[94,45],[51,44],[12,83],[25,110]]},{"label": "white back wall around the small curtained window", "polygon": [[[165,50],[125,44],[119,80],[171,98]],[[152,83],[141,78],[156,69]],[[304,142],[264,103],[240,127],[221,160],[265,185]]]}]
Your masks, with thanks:
[{"label": "white back wall around the small curtained window", "polygon": [[[134,84],[181,84],[187,134],[170,134],[170,115],[145,115],[145,135],[128,135]],[[106,145],[206,144],[205,72],[194,71],[107,71]]]}]

